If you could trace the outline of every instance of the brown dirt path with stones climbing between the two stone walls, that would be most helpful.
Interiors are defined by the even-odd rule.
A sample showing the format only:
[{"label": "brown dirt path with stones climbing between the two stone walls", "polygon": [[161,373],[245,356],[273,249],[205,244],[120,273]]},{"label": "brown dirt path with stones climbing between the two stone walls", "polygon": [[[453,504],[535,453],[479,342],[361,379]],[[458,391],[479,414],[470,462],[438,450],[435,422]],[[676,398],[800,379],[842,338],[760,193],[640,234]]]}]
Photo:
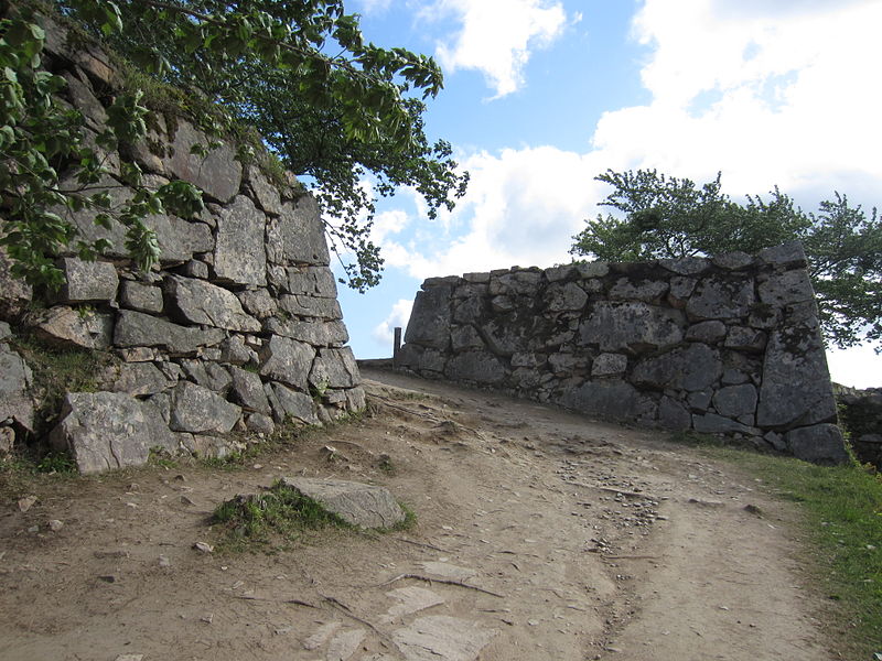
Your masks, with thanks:
[{"label": "brown dirt path with stones climbing between the two stone walls", "polygon": [[[751,478],[654,433],[364,376],[373,418],[255,466],[41,483],[26,512],[2,503],[0,659],[832,658],[793,512]],[[273,555],[192,548],[219,501],[301,474],[383,484],[418,525]]]}]

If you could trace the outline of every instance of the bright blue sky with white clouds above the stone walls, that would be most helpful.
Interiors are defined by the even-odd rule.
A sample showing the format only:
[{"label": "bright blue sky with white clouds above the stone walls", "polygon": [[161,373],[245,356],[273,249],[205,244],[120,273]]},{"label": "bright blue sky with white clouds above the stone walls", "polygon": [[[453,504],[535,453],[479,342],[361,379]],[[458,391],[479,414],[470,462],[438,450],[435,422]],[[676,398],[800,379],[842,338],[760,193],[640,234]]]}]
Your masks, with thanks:
[{"label": "bright blue sky with white clouds above the stone walls", "polygon": [[[471,173],[434,220],[411,189],[378,205],[381,283],[341,286],[358,358],[391,355],[426,278],[571,260],[610,192],[657,169],[735,201],[778,186],[803,209],[882,206],[882,0],[348,0],[367,41],[435,57],[426,115]],[[369,186],[369,180],[365,182]],[[833,380],[882,386],[872,348],[828,353]]]}]

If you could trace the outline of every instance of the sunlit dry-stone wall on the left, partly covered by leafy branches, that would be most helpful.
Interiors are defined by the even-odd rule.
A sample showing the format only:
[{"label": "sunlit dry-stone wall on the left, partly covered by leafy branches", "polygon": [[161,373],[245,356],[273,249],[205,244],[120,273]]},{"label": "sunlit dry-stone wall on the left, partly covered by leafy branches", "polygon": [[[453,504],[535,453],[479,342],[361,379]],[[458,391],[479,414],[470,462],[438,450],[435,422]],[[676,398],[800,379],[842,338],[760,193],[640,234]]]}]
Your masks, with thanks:
[{"label": "sunlit dry-stone wall on the left, partly covered by leafy branches", "polygon": [[[100,50],[68,54],[62,29],[47,24],[47,34],[49,66],[67,80],[62,102],[100,130],[119,76]],[[283,421],[320,424],[364,408],[315,201],[293,177],[270,184],[228,141],[195,155],[212,139],[185,119],[154,116],[151,126],[144,142],[105,154],[101,186],[114,201],[131,196],[118,177],[135,162],[151,185],[197,185],[207,208],[148,218],[162,254],[146,274],[127,258],[119,223],[104,229],[94,213],[67,214],[112,247],[95,262],[60,256],[67,284],[49,296],[12,279],[0,252],[0,452],[44,435],[95,473],[143,464],[151,448],[224,455]],[[111,357],[96,391],[66,394],[52,429],[41,429],[45,393],[15,349],[28,335]],[[234,441],[235,431],[250,434]]]}]

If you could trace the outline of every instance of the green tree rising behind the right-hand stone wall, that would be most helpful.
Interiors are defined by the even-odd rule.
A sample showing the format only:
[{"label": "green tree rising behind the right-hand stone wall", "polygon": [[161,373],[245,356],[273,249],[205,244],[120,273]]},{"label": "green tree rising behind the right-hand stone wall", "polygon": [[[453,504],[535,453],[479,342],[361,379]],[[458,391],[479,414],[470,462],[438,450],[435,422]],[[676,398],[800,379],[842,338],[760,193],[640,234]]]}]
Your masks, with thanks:
[{"label": "green tree rising behind the right-hand stone wall", "polygon": [[[840,348],[882,342],[882,223],[839,193],[806,214],[775,187],[768,202],[738,204],[721,193],[721,175],[700,188],[688,178],[655,170],[614,172],[598,181],[613,186],[607,214],[587,220],[570,252],[606,261],[756,252],[802,241],[818,299],[821,329]],[[882,344],[876,346],[882,351]]]}]

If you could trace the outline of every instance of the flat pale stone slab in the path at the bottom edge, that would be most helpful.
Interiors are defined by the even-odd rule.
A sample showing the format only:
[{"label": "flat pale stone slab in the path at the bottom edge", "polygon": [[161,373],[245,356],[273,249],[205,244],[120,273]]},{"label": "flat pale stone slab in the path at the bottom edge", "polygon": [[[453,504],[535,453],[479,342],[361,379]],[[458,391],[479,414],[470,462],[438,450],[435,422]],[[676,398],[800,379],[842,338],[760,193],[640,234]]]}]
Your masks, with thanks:
[{"label": "flat pale stone slab in the path at the bottom edge", "polygon": [[470,620],[430,615],[396,630],[392,640],[407,661],[475,661],[498,633]]}]

